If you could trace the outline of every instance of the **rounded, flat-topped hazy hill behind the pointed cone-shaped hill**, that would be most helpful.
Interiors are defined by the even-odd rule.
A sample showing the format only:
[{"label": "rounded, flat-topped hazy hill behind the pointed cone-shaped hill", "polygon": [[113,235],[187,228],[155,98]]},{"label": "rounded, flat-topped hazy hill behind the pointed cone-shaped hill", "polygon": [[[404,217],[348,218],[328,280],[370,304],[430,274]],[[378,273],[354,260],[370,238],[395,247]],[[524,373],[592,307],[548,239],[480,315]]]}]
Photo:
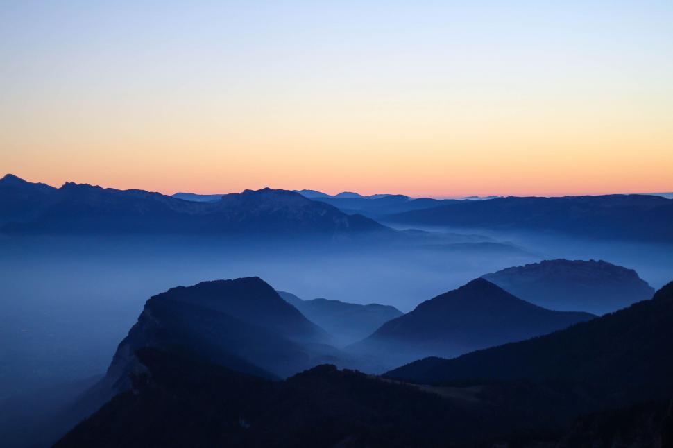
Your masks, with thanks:
[{"label": "rounded, flat-topped hazy hill behind the pointed cone-shaped hill", "polygon": [[602,260],[544,260],[482,278],[523,300],[559,311],[604,314],[654,294],[635,270]]}]

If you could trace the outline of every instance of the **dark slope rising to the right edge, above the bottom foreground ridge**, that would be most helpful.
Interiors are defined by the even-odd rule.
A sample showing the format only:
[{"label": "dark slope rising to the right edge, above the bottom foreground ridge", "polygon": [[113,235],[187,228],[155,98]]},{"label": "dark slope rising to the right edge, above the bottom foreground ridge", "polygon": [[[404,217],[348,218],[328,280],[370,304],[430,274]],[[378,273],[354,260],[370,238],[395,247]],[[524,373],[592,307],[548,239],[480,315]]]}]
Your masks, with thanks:
[{"label": "dark slope rising to the right edge, above the bottom foreground ridge", "polygon": [[528,341],[429,358],[386,377],[422,384],[528,381],[598,395],[593,406],[673,397],[673,282],[628,308]]}]

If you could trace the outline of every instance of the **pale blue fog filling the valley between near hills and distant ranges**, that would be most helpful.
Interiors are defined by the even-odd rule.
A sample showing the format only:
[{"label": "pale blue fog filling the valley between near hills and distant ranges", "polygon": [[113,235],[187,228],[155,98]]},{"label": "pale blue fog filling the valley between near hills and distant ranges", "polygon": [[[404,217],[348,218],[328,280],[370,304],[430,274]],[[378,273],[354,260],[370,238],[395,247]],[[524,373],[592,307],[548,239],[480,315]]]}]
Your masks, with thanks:
[{"label": "pale blue fog filling the valley between near hills and distant ranges", "polygon": [[451,231],[441,244],[3,238],[0,399],[103,373],[145,300],[203,280],[256,275],[304,299],[407,312],[484,273],[540,259],[605,259],[655,288],[673,278],[670,247]]}]

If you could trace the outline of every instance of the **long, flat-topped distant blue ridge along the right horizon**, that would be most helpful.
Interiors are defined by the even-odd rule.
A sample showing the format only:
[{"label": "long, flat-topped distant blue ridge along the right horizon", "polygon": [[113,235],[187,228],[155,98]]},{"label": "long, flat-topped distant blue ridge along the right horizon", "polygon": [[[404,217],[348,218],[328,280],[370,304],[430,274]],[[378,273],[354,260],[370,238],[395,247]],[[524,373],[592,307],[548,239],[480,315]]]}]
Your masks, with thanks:
[{"label": "long, flat-topped distant blue ridge along the right horizon", "polygon": [[673,243],[673,199],[652,195],[410,198],[398,194],[330,196],[300,190],[316,202],[382,223],[565,234],[585,239]]}]

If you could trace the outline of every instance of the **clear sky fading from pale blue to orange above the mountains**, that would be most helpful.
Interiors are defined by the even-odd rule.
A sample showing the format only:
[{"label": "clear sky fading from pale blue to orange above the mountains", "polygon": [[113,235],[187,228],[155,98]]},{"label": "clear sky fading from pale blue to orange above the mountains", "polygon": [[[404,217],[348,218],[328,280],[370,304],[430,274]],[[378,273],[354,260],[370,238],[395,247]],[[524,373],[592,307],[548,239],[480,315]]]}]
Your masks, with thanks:
[{"label": "clear sky fading from pale blue to orange above the mountains", "polygon": [[0,0],[0,175],[673,191],[673,2]]}]

